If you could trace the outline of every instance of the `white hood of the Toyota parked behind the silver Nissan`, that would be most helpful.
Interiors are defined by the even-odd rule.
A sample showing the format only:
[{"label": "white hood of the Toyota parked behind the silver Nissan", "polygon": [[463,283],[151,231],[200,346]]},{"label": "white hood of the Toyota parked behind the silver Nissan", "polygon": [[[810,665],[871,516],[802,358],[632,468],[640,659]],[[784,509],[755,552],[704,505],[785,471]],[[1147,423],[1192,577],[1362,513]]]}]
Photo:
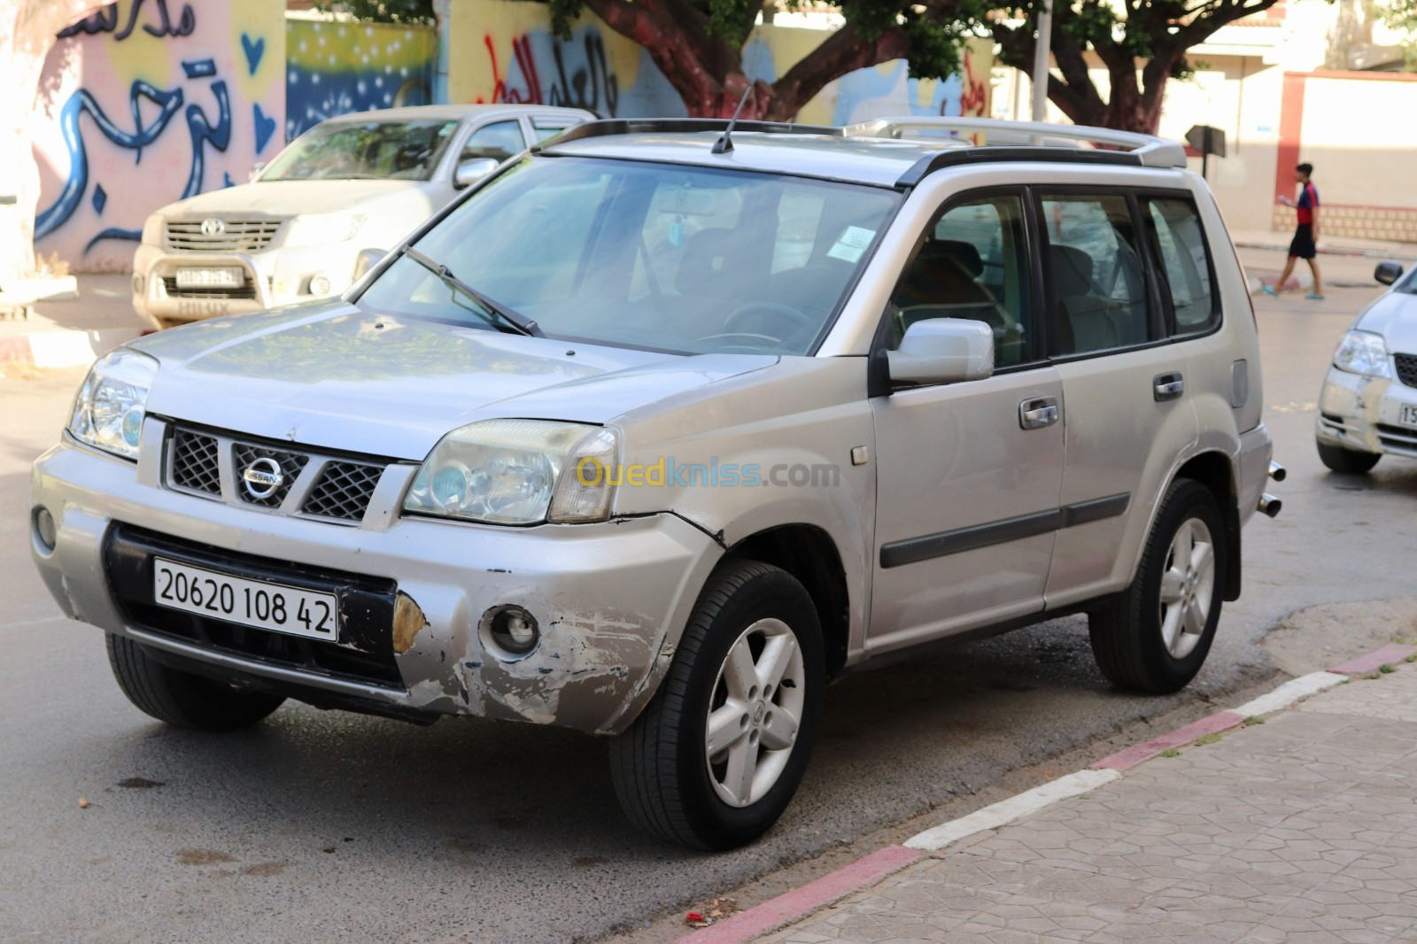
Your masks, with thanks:
[{"label": "white hood of the Toyota parked behind the silver Nissan", "polygon": [[[272,180],[210,190],[162,208],[166,217],[249,215],[293,217],[302,213],[367,211],[381,203],[408,201],[418,191],[429,191],[428,213],[434,207],[427,180]],[[428,215],[428,214],[424,214]]]}]

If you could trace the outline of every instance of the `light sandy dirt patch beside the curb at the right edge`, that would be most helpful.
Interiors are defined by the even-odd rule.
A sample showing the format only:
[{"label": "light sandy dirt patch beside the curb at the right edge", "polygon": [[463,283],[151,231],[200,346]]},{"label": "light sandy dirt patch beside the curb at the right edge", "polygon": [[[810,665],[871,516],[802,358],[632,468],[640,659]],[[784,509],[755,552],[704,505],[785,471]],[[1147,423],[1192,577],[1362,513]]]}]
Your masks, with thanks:
[{"label": "light sandy dirt patch beside the curb at the right edge", "polygon": [[1260,645],[1284,672],[1298,676],[1389,642],[1417,642],[1417,597],[1299,609],[1267,632]]}]

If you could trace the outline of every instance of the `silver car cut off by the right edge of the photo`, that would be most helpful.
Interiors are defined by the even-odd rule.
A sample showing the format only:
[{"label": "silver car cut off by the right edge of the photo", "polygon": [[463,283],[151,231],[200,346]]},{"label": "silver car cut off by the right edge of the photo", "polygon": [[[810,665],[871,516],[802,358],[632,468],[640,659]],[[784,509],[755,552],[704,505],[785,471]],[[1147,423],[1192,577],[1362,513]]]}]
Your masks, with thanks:
[{"label": "silver car cut off by the right edge of the photo", "polygon": [[1383,454],[1417,459],[1417,265],[1373,272],[1391,288],[1363,309],[1333,350],[1319,394],[1319,459],[1367,472]]}]

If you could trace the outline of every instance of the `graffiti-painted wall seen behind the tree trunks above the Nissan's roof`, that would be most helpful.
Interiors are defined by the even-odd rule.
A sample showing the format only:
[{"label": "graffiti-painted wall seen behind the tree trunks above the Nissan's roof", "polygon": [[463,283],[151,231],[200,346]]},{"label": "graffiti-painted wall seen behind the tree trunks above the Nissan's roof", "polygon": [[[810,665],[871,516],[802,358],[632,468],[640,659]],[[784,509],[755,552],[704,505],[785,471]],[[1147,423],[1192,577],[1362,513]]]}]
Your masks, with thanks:
[{"label": "graffiti-painted wall seen behind the tree trunks above the Nissan's roof", "polygon": [[[775,81],[826,33],[758,27],[744,50],[752,78]],[[547,9],[510,0],[453,4],[448,94],[455,102],[574,105],[602,116],[682,116],[683,102],[649,54],[594,16],[574,24],[570,41],[550,33]],[[913,79],[904,61],[852,72],[828,85],[798,120],[845,125],[886,115],[988,115],[992,44],[965,55],[961,75]]]}]

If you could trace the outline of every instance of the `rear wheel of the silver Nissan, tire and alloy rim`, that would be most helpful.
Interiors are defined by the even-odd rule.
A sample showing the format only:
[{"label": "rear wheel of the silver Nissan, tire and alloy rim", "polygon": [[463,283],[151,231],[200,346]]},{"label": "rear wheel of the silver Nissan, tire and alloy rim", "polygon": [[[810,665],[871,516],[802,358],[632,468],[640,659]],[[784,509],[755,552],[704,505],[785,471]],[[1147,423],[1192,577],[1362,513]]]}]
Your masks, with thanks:
[{"label": "rear wheel of the silver Nissan, tire and alloy rim", "polygon": [[1220,621],[1227,554],[1214,495],[1173,482],[1131,587],[1090,615],[1093,656],[1112,685],[1161,695],[1196,678]]}]

